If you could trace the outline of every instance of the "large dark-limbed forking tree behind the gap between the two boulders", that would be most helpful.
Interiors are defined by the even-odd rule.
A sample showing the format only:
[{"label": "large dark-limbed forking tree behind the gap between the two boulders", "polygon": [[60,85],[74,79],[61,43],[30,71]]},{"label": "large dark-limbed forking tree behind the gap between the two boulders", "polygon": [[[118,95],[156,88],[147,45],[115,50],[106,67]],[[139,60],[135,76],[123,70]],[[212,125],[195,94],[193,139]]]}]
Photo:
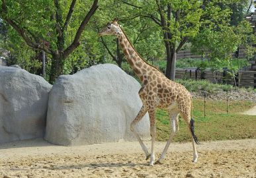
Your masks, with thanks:
[{"label": "large dark-limbed forking tree behind the gap between the two boulders", "polygon": [[[76,18],[72,18],[76,0],[68,1],[69,5],[67,1],[58,0],[2,0],[0,16],[17,31],[28,46],[52,55],[50,82],[54,82],[64,71],[65,59],[80,45],[81,34],[97,10],[98,1],[94,0],[90,9],[83,7],[83,12],[88,12],[86,15],[79,12],[80,22],[77,24],[73,23]],[[83,1],[87,4],[89,2],[91,1]],[[77,30],[72,43],[67,45],[66,34],[70,25]]]}]

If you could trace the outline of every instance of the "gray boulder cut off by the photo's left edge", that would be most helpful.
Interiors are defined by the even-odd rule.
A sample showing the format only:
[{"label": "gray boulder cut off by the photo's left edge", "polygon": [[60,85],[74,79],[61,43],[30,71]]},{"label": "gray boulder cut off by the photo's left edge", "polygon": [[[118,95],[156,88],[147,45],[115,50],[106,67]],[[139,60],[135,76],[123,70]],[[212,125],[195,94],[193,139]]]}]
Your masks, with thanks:
[{"label": "gray boulder cut off by the photo's left edge", "polygon": [[0,66],[0,143],[44,136],[51,88],[41,76]]}]

